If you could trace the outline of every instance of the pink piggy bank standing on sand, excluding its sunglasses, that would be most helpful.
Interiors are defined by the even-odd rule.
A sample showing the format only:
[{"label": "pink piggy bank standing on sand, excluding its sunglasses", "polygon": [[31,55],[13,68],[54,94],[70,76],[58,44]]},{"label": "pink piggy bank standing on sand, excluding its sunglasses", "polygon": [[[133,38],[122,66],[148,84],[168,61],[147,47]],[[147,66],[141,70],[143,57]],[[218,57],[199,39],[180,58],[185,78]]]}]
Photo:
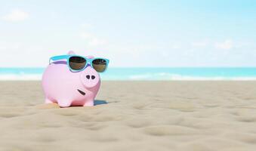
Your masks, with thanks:
[{"label": "pink piggy bank standing on sand, excluding its sunglasses", "polygon": [[[69,51],[68,55],[72,54]],[[74,72],[69,69],[67,60],[60,58],[45,69],[42,88],[45,103],[58,103],[60,107],[94,106],[94,98],[100,88],[100,75],[90,64],[82,71]]]}]

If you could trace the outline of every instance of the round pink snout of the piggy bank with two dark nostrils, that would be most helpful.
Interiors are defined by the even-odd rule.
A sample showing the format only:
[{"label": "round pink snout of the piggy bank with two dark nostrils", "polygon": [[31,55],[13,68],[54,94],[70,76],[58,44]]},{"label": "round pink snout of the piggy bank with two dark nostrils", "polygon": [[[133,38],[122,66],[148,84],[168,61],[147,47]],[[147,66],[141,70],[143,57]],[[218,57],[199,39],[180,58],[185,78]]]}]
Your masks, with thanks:
[{"label": "round pink snout of the piggy bank with two dark nostrils", "polygon": [[85,88],[93,88],[100,81],[100,75],[91,66],[88,66],[81,75],[82,84]]}]

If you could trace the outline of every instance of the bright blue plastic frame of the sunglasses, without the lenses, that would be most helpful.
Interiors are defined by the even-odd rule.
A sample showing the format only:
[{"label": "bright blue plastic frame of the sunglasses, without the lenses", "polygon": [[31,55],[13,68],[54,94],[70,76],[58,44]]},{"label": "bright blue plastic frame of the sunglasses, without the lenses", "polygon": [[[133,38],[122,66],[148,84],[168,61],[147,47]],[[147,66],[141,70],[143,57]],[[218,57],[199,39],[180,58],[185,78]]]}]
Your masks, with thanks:
[{"label": "bright blue plastic frame of the sunglasses, without the lenses", "polygon": [[[70,66],[69,66],[69,58],[70,57],[82,57],[86,60],[86,64],[85,64],[85,67],[83,69],[79,69],[79,70],[76,70],[76,69],[72,69]],[[88,66],[88,63],[92,64],[92,62],[94,60],[97,60],[97,59],[102,59],[102,60],[106,60],[106,69],[107,69],[107,66],[109,65],[109,60],[106,59],[106,58],[103,58],[103,57],[94,57],[94,58],[87,58],[87,57],[83,57],[83,56],[79,56],[79,55],[60,55],[60,56],[54,56],[54,57],[51,57],[50,60],[49,60],[49,64],[51,64],[51,60],[53,61],[57,61],[57,60],[63,60],[63,59],[66,59],[66,62],[67,62],[67,65],[69,66],[69,69],[73,72],[80,72],[82,70],[84,70],[87,66]],[[93,66],[91,66],[93,67]],[[105,72],[106,69],[103,71]]]}]

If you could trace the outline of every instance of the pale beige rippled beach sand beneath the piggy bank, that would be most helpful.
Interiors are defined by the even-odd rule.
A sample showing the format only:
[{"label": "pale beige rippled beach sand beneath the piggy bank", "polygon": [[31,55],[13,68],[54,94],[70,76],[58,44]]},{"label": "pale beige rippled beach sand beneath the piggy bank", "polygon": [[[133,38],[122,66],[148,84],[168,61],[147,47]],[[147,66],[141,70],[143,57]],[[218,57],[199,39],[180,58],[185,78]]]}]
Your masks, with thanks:
[{"label": "pale beige rippled beach sand beneath the piggy bank", "polygon": [[0,82],[0,150],[255,150],[256,82],[103,82],[97,106]]}]

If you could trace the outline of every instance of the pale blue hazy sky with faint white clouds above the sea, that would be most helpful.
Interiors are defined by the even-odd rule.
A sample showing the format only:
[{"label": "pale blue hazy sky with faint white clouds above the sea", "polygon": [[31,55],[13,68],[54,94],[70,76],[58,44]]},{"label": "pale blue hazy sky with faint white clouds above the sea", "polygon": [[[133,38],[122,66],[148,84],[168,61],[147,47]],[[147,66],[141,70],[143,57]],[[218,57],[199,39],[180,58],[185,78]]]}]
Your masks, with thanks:
[{"label": "pale blue hazy sky with faint white clouds above the sea", "polygon": [[256,66],[256,1],[0,0],[0,67],[54,55],[110,67]]}]

